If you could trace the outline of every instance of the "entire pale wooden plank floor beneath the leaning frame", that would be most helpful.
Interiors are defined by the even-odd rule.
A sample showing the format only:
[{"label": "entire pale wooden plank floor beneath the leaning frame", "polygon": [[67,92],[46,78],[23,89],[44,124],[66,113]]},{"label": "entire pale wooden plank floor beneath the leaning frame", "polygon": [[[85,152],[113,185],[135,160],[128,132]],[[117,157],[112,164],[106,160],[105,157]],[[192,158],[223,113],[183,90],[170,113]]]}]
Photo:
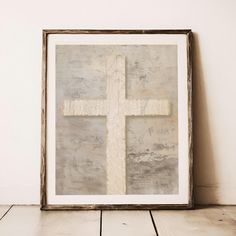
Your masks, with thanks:
[{"label": "entire pale wooden plank floor beneath the leaning frame", "polygon": [[0,206],[1,236],[236,236],[236,206],[166,211],[40,211]]}]

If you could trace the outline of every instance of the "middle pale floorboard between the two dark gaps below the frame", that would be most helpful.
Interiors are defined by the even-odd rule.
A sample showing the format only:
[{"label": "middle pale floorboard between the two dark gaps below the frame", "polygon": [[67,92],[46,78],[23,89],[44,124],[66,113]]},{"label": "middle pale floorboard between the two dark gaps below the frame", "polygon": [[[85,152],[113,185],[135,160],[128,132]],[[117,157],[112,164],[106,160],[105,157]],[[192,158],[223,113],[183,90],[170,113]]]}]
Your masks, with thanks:
[{"label": "middle pale floorboard between the two dark gaps below the frame", "polygon": [[102,235],[155,236],[148,211],[103,211]]}]

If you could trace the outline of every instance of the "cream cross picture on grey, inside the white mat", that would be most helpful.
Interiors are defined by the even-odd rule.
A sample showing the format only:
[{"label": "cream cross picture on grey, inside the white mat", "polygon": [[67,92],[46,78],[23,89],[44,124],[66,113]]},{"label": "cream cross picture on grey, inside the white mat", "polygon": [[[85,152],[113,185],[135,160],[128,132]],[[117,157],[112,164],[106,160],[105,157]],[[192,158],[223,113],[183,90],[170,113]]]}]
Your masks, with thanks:
[{"label": "cream cross picture on grey, inside the white mat", "polygon": [[177,56],[56,46],[56,194],[178,194]]}]

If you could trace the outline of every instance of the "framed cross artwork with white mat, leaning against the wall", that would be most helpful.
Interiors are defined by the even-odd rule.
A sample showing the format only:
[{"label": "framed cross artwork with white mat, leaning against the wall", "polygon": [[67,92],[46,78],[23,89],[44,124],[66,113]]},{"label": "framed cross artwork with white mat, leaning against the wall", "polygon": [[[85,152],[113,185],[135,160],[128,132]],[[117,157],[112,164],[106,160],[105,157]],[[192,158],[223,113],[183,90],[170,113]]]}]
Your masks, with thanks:
[{"label": "framed cross artwork with white mat, leaning against the wall", "polygon": [[41,209],[191,208],[191,30],[44,30]]}]

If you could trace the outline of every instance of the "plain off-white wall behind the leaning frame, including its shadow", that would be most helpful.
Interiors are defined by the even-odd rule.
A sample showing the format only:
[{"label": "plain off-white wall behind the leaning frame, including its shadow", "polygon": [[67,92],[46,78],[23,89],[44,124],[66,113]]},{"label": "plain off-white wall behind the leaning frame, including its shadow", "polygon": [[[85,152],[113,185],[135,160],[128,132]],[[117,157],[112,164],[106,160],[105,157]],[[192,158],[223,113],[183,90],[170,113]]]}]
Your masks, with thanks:
[{"label": "plain off-white wall behind the leaning frame, including its shadow", "polygon": [[39,203],[44,28],[191,28],[198,203],[236,204],[236,1],[0,0],[0,204]]}]

